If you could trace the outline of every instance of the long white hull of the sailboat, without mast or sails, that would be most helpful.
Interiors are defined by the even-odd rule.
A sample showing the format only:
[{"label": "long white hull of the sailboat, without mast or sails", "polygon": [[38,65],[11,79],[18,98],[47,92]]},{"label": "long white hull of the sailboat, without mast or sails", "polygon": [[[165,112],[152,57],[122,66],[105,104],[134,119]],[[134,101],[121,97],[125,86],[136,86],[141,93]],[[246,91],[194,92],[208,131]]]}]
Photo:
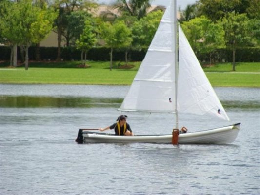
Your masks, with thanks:
[{"label": "long white hull of the sailboat, without mast or sails", "polygon": [[[232,143],[240,130],[240,123],[216,129],[180,134],[179,144],[228,144]],[[80,139],[81,136],[81,139]],[[169,135],[117,136],[114,134],[79,131],[77,140],[85,143],[171,143]],[[76,140],[76,141],[77,141]],[[80,143],[80,141],[77,141]]]}]

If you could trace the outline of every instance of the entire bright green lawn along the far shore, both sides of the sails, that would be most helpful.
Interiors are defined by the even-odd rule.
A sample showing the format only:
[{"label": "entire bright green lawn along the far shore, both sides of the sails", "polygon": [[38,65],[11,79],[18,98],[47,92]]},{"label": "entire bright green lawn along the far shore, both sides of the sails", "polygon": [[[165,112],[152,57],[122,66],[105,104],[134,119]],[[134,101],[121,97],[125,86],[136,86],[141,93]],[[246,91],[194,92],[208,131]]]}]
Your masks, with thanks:
[{"label": "entire bright green lawn along the far shore, both sides of the sails", "polygon": [[[89,68],[79,68],[79,61],[71,62],[31,62],[29,70],[24,67],[8,68],[8,62],[0,63],[0,83],[25,84],[102,84],[130,85],[140,62],[130,62],[131,69],[109,70],[109,62],[89,61]],[[238,63],[232,72],[231,63],[220,63],[204,68],[213,86],[260,87],[260,63]]]}]

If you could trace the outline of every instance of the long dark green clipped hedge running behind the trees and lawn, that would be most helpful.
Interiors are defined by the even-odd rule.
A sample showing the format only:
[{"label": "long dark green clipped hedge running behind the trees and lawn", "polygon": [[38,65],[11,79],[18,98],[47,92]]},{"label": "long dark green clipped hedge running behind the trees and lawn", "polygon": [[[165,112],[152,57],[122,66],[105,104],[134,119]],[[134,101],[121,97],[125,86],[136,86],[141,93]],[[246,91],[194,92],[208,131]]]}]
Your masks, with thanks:
[{"label": "long dark green clipped hedge running behind the trees and lawn", "polygon": [[[40,47],[40,60],[55,60],[57,58],[57,47]],[[19,48],[18,48],[18,51]],[[129,61],[141,61],[147,48],[143,48],[140,51],[129,50],[128,60]],[[201,62],[209,61],[209,54],[196,54]],[[35,60],[36,58],[36,47],[29,48],[29,59]],[[61,48],[61,58],[63,60],[80,60],[81,51],[75,47],[63,47]],[[10,48],[6,46],[0,46],[0,60],[10,59]],[[105,47],[92,48],[87,53],[87,59],[95,61],[109,61],[110,60],[110,49]],[[218,49],[213,55],[212,59],[215,62],[231,62],[232,51],[229,49]],[[18,60],[20,60],[20,52],[18,52]],[[113,60],[124,61],[125,51],[114,50]],[[237,62],[259,62],[260,61],[260,47],[247,47],[236,50],[236,61]]]}]

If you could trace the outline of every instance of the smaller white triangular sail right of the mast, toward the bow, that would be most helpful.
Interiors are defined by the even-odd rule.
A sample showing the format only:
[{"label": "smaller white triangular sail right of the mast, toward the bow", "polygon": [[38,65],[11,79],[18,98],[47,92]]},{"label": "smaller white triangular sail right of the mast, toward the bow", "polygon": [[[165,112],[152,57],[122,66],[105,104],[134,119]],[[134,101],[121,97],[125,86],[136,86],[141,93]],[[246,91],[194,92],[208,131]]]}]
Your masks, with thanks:
[{"label": "smaller white triangular sail right of the mast, toward the bow", "polygon": [[229,120],[180,26],[177,104],[180,113],[210,114]]}]

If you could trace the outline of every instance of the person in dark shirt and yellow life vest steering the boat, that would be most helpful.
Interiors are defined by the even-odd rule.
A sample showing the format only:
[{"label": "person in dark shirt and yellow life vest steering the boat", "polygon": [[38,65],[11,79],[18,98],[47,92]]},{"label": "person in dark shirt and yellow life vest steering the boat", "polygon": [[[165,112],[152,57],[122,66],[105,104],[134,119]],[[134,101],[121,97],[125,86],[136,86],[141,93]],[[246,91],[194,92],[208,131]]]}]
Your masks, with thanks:
[{"label": "person in dark shirt and yellow life vest steering the boat", "polygon": [[133,136],[133,132],[131,130],[130,125],[126,122],[126,115],[120,115],[117,119],[117,122],[112,124],[111,126],[108,126],[106,128],[99,128],[100,131],[105,131],[108,129],[114,129],[115,130],[115,134],[122,136]]}]

